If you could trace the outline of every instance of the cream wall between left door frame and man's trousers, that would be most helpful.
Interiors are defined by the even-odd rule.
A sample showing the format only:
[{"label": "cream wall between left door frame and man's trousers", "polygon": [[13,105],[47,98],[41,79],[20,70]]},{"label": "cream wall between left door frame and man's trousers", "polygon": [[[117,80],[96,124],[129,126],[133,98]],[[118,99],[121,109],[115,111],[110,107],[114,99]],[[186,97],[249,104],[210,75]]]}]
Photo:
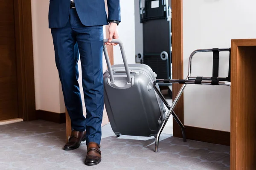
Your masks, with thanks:
[{"label": "cream wall between left door frame and man's trousers", "polygon": [[48,28],[49,1],[31,0],[31,6],[36,109],[63,113],[64,99]]}]

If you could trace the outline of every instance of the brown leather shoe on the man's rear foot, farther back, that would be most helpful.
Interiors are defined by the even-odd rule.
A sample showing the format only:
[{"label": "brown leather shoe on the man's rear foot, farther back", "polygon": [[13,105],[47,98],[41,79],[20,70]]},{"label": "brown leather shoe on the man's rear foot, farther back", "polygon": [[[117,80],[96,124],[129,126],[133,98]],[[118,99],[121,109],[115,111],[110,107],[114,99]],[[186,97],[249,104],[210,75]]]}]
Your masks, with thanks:
[{"label": "brown leather shoe on the man's rear foot, farther back", "polygon": [[67,144],[64,146],[64,150],[74,150],[80,146],[80,143],[82,141],[85,141],[85,134],[86,131],[79,132],[76,130],[73,130],[70,136],[70,139],[68,139]]}]

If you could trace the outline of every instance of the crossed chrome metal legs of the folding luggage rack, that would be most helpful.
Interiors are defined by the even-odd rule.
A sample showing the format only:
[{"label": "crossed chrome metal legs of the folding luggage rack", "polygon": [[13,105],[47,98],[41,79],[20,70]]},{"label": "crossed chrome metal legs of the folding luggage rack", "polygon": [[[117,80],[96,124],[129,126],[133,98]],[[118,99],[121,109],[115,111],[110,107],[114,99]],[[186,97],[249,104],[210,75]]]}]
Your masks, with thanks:
[{"label": "crossed chrome metal legs of the folding luggage rack", "polygon": [[181,127],[181,130],[182,130],[182,135],[183,135],[183,142],[186,142],[186,133],[185,133],[185,127],[184,125],[182,124],[182,122],[180,121],[180,119],[177,117],[177,115],[175,114],[175,112],[173,111],[175,106],[177,105],[177,102],[179,101],[180,99],[180,96],[181,94],[183,93],[185,87],[186,87],[186,84],[183,84],[177,97],[174,99],[174,101],[172,102],[172,106],[169,105],[169,103],[166,101],[166,99],[164,98],[163,94],[160,92],[160,90],[156,87],[156,84],[159,83],[159,82],[164,82],[163,80],[155,80],[153,82],[153,88],[154,90],[157,92],[157,94],[160,96],[160,99],[163,101],[163,103],[166,105],[166,107],[169,109],[165,119],[163,120],[163,123],[160,127],[160,130],[158,131],[157,133],[157,137],[156,137],[156,141],[155,141],[155,152],[158,152],[158,143],[159,143],[159,137],[160,137],[160,134],[162,133],[163,131],[163,128],[165,127],[169,117],[172,116],[174,117],[174,119],[176,120],[176,122],[178,123],[178,125]]}]

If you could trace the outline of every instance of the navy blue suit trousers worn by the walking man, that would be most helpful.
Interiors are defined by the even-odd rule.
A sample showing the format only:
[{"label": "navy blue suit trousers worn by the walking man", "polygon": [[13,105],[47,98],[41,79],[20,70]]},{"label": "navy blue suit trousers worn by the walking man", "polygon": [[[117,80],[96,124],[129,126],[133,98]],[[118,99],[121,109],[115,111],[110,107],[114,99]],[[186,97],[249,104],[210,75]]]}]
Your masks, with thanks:
[{"label": "navy blue suit trousers worn by the walking man", "polygon": [[[104,108],[103,26],[84,26],[79,20],[76,8],[71,8],[67,25],[62,28],[51,28],[51,33],[55,62],[72,128],[77,131],[86,130],[87,143],[100,144]],[[79,57],[86,117],[83,115],[78,83]]]}]

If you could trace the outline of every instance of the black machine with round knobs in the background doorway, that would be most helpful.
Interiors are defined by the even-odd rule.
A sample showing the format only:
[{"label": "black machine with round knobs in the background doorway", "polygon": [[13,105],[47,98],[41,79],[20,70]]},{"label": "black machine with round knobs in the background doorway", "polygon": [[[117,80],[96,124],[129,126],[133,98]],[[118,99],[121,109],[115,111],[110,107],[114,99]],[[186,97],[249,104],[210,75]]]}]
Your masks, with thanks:
[{"label": "black machine with round knobs in the background doorway", "polygon": [[[149,65],[157,79],[172,79],[172,31],[170,0],[140,0],[140,23],[143,24],[143,54],[140,63]],[[171,3],[170,3],[171,4]],[[163,90],[166,86],[160,86]],[[167,86],[168,87],[168,86]],[[168,87],[172,97],[172,84]]]}]

